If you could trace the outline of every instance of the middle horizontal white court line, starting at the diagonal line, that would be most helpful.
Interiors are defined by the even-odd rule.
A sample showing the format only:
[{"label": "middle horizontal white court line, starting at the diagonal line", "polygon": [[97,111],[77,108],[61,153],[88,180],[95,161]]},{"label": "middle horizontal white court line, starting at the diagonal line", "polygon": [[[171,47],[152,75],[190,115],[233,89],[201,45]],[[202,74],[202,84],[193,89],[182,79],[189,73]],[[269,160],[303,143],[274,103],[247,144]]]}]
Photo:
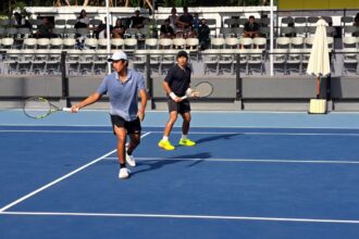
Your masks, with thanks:
[{"label": "middle horizontal white court line, starting at the diagonal line", "polygon": [[[106,160],[116,160],[117,158],[108,156]],[[359,161],[336,161],[336,160],[252,160],[252,159],[188,159],[188,158],[140,158],[136,161],[206,161],[206,162],[248,162],[248,163],[312,163],[312,164],[359,164]]]}]

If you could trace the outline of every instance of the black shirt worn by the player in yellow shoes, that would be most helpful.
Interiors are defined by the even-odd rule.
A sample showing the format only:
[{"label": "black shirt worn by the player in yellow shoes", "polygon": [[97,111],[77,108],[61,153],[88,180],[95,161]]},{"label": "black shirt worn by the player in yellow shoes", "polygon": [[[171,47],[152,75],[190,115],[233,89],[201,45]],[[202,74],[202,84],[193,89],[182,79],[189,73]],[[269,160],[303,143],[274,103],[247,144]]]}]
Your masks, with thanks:
[{"label": "black shirt worn by the player in yellow shoes", "polygon": [[169,70],[164,81],[169,84],[170,88],[177,97],[183,97],[186,95],[186,90],[190,84],[190,73],[188,66],[183,70],[176,64]]}]

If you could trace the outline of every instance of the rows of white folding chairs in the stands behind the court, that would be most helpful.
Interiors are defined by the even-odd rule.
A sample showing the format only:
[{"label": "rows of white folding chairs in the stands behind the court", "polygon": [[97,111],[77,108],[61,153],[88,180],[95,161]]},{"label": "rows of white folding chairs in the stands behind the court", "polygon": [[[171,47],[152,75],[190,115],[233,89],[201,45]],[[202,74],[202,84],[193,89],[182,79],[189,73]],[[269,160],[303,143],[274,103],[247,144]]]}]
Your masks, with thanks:
[{"label": "rows of white folding chairs in the stands behind the court", "polygon": [[[330,16],[324,16],[327,23],[332,23]],[[343,74],[348,72],[358,73],[358,64],[355,62],[358,54],[358,27],[352,26],[352,16],[343,16]],[[161,25],[162,20],[156,24]],[[111,39],[111,51],[122,49],[128,53],[134,65],[145,66],[146,55],[151,54],[151,72],[164,74],[174,64],[175,52],[180,49],[189,53],[190,61],[202,62],[206,74],[234,74],[236,61],[239,56],[240,71],[246,74],[265,73],[264,63],[268,58],[263,50],[268,50],[269,18],[257,18],[261,25],[261,37],[244,38],[244,24],[248,18],[225,18],[223,27],[218,28],[216,20],[208,18],[211,28],[210,49],[199,51],[197,38],[160,39],[154,37],[148,26],[144,28],[127,28],[125,39]],[[287,16],[280,18],[280,28],[274,37],[274,64],[275,73],[283,68],[283,74],[304,74],[308,63],[309,50],[311,49],[315,33],[317,16]],[[106,60],[108,58],[107,39],[94,38],[92,29],[101,23],[100,20],[91,20],[89,28],[75,29],[76,20],[55,20],[54,38],[34,38],[40,20],[29,21],[33,28],[14,28],[9,21],[0,21],[0,49],[7,52],[1,64],[11,74],[59,74],[60,55],[67,51],[66,64],[71,74],[104,74],[107,72]],[[163,21],[162,21],[163,22]],[[330,51],[334,52],[334,37],[336,29],[327,26],[327,41]],[[276,29],[275,29],[276,32]],[[219,33],[219,34],[218,34]],[[76,49],[76,37],[86,36],[85,49]],[[145,51],[146,50],[146,51]],[[219,50],[219,51],[218,51]],[[219,55],[214,56],[214,52]],[[336,51],[339,52],[341,51]],[[9,55],[8,55],[9,54]],[[15,55],[18,54],[18,55]],[[71,55],[70,55],[71,54]],[[138,54],[138,55],[137,55]],[[237,55],[238,54],[238,55]],[[335,54],[334,59],[335,59]],[[281,67],[277,67],[281,66]],[[140,68],[140,67],[138,67]],[[144,67],[143,67],[144,68]],[[143,70],[144,71],[144,70]]]}]

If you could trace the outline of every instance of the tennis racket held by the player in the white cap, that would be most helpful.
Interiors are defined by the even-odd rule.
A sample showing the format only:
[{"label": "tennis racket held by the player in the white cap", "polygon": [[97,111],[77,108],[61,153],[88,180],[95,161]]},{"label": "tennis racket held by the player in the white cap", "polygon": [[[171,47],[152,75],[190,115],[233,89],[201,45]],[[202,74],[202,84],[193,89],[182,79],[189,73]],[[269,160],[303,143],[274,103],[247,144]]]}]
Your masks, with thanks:
[{"label": "tennis racket held by the player in the white cap", "polygon": [[25,101],[24,113],[26,116],[40,120],[58,111],[71,112],[71,108],[58,108],[41,97],[33,97]]}]

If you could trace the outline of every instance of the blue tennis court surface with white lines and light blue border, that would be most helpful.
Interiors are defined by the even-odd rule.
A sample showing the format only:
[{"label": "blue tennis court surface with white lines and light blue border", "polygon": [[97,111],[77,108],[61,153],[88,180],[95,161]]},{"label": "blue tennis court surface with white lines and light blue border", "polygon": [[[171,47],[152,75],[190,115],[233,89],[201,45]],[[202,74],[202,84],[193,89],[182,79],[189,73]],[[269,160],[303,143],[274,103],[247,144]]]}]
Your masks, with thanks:
[{"label": "blue tennis court surface with white lines and light blue border", "polygon": [[359,114],[149,112],[125,180],[107,112],[0,115],[0,238],[359,237]]}]

